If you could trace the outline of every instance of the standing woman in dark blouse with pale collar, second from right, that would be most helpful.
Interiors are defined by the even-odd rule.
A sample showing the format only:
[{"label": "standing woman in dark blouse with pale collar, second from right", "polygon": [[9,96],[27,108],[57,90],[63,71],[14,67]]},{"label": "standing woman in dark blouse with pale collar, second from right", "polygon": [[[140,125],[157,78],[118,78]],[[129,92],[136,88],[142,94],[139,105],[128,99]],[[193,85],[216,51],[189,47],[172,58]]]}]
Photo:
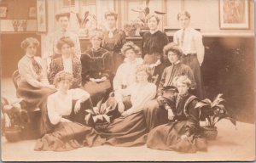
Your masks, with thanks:
[{"label": "standing woman in dark blouse with pale collar, second from right", "polygon": [[151,67],[151,82],[157,86],[160,82],[161,72],[167,65],[170,65],[167,59],[164,59],[163,48],[168,44],[169,40],[166,33],[158,29],[160,19],[157,15],[148,16],[148,32],[143,34],[142,40],[142,57],[144,64]]}]

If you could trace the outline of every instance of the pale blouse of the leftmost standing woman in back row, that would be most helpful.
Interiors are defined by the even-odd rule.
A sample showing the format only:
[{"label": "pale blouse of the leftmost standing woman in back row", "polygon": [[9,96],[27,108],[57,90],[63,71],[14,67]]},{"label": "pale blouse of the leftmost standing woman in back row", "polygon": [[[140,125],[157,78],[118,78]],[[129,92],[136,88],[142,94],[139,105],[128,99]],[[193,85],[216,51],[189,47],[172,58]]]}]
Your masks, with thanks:
[{"label": "pale blouse of the leftmost standing woman in back row", "polygon": [[49,34],[46,39],[45,51],[42,55],[43,59],[47,59],[49,56],[58,53],[60,54],[58,48],[56,47],[57,42],[61,39],[61,37],[70,37],[74,43],[73,51],[74,56],[80,59],[81,56],[81,48],[80,48],[80,41],[79,36],[72,31],[55,31]]}]

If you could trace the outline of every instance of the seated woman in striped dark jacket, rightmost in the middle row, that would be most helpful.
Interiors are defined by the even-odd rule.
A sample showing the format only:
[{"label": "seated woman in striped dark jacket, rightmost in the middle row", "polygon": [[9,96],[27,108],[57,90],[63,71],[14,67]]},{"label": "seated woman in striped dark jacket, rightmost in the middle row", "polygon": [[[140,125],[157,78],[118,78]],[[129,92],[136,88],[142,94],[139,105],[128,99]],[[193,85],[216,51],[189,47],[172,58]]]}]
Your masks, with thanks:
[{"label": "seated woman in striped dark jacket, rightmost in the middle row", "polygon": [[149,130],[153,129],[154,126],[165,124],[168,121],[165,118],[165,115],[167,114],[166,110],[163,110],[159,105],[159,101],[163,99],[162,94],[164,87],[173,86],[173,80],[177,76],[189,76],[189,79],[192,82],[191,88],[195,89],[196,87],[192,70],[188,65],[183,65],[180,61],[183,54],[181,48],[179,48],[176,43],[172,42],[165,46],[164,53],[172,65],[166,67],[162,73],[160,84],[157,89],[157,99],[150,101],[144,108]]}]

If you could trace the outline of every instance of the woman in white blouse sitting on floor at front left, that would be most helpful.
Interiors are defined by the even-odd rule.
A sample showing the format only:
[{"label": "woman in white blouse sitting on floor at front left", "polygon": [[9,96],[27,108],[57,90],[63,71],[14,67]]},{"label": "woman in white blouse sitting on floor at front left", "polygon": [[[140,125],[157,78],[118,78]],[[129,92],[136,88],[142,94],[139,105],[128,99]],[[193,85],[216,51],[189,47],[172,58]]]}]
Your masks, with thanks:
[{"label": "woman in white blouse sitting on floor at front left", "polygon": [[[52,130],[38,139],[35,150],[71,150],[84,144],[93,146],[104,142],[93,128],[81,124],[85,123],[85,111],[81,104],[88,101],[86,108],[92,107],[90,94],[80,88],[69,89],[72,81],[73,75],[68,72],[60,71],[56,74],[54,83],[57,92],[47,99]],[[73,100],[76,100],[74,107]]]}]

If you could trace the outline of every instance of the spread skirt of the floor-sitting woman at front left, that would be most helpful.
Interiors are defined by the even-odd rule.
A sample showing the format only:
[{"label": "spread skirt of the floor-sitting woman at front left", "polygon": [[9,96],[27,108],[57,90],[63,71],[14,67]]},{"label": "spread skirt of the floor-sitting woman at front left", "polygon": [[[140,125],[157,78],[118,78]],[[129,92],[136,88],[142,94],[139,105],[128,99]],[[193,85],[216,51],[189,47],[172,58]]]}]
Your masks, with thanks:
[{"label": "spread skirt of the floor-sitting woman at front left", "polygon": [[105,142],[104,138],[90,126],[77,122],[61,122],[53,132],[37,140],[35,150],[66,151],[84,146],[97,146]]}]

